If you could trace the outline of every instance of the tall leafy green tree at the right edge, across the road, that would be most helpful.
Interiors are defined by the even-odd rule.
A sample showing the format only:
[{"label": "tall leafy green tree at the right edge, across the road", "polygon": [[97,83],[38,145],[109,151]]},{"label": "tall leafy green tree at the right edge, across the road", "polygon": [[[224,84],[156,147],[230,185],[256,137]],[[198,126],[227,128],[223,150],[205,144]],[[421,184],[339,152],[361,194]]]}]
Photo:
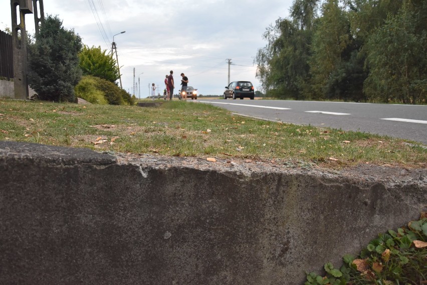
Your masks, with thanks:
[{"label": "tall leafy green tree at the right edge, across the road", "polygon": [[[425,8],[425,4],[424,5]],[[366,45],[369,76],[364,89],[372,100],[425,103],[427,89],[427,33],[418,29],[417,2],[406,2],[397,15],[389,15]],[[425,24],[423,24],[425,25]]]}]

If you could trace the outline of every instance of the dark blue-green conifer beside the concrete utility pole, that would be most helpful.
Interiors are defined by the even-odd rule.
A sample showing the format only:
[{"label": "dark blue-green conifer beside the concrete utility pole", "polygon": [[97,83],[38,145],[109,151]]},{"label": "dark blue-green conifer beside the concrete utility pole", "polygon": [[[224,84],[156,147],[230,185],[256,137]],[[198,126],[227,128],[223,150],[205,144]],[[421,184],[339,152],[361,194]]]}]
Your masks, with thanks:
[{"label": "dark blue-green conifer beside the concrete utility pole", "polygon": [[38,99],[74,101],[74,86],[82,75],[81,49],[74,30],[66,30],[57,16],[46,17],[37,41],[29,46],[29,82]]}]

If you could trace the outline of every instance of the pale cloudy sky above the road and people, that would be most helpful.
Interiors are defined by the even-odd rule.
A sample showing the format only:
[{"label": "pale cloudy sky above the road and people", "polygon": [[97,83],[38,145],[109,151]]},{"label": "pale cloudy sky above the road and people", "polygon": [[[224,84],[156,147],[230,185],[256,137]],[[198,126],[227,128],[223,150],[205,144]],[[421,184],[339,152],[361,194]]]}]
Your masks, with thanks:
[{"label": "pale cloudy sky above the road and people", "polygon": [[[155,83],[163,93],[164,78],[181,72],[200,94],[222,95],[228,82],[249,80],[259,88],[254,57],[266,45],[262,35],[278,18],[286,18],[293,0],[44,0],[45,16],[58,15],[83,43],[111,50],[113,35],[121,66],[123,88],[149,94]],[[11,27],[10,1],[0,4],[0,30]],[[26,16],[34,34],[34,17]],[[102,32],[101,32],[102,31]],[[143,73],[143,74],[141,74]],[[175,84],[179,85],[179,84]],[[140,89],[139,89],[140,88]]]}]

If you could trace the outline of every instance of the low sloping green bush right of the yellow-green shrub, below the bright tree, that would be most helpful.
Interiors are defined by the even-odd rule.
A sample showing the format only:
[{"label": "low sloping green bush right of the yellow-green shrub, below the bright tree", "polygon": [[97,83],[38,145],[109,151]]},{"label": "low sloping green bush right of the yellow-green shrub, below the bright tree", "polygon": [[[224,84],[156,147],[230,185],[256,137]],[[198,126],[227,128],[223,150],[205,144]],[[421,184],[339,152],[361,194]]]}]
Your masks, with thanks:
[{"label": "low sloping green bush right of the yellow-green shrub, below the bright tree", "polygon": [[133,105],[135,97],[132,97],[128,92],[120,89],[113,82],[107,81],[99,77],[92,77],[95,81],[95,87],[104,93],[105,99],[111,105]]}]

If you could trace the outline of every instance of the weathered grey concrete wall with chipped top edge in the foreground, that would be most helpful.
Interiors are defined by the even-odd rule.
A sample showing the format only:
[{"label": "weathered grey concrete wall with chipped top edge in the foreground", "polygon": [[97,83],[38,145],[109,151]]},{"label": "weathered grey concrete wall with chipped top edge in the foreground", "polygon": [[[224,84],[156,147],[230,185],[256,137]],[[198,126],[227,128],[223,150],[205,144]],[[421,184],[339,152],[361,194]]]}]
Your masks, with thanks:
[{"label": "weathered grey concrete wall with chipped top edge in the foreground", "polygon": [[0,283],[301,284],[417,219],[426,174],[0,141]]}]

